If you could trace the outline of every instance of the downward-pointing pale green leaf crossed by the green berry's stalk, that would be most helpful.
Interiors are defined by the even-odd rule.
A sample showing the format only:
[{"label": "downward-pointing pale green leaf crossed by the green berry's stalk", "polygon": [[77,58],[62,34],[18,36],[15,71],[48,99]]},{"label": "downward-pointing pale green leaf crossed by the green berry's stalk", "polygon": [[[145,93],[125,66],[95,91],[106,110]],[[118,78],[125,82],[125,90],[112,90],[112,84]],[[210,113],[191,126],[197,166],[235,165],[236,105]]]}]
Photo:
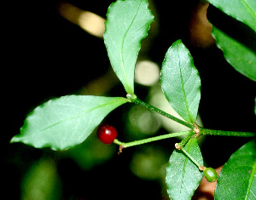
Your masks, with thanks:
[{"label": "downward-pointing pale green leaf crossed by the green berry's stalk", "polygon": [[[192,138],[184,149],[203,166],[201,150],[196,138]],[[167,192],[171,199],[191,199],[199,186],[203,173],[182,151],[174,150],[166,169]]]}]

